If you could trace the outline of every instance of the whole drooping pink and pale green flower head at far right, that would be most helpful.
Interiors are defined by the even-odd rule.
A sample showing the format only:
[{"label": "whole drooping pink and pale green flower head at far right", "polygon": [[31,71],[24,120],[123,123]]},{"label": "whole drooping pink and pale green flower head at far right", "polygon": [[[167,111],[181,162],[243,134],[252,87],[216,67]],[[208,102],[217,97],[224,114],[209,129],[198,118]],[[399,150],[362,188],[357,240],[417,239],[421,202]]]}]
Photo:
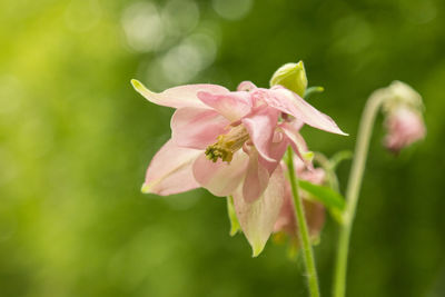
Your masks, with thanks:
[{"label": "whole drooping pink and pale green flower head at far right", "polygon": [[418,92],[402,81],[394,81],[389,87],[377,90],[374,96],[384,98],[387,129],[384,142],[389,150],[398,152],[425,137],[426,128],[422,117],[424,107]]}]

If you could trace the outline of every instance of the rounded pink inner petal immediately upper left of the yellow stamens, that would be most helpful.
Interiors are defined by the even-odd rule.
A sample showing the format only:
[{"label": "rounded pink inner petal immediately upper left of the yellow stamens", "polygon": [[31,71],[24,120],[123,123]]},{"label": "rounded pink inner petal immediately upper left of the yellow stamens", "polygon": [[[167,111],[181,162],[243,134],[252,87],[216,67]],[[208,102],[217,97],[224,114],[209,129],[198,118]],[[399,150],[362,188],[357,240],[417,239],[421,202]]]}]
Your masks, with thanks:
[{"label": "rounded pink inner petal immediately upper left of the yellow stamens", "polygon": [[205,149],[228,131],[230,122],[218,112],[206,108],[186,107],[171,117],[171,139],[186,148]]}]

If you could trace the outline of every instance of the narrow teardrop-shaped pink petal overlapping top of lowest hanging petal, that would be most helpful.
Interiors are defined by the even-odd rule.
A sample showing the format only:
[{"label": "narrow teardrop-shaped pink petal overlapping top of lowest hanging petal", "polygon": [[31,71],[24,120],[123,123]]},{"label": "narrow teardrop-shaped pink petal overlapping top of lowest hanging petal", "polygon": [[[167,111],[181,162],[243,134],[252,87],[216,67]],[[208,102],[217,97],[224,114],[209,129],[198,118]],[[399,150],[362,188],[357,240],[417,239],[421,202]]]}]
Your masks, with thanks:
[{"label": "narrow teardrop-shaped pink petal overlapping top of lowest hanging petal", "polygon": [[269,182],[269,172],[258,162],[258,152],[255,148],[249,151],[249,165],[243,185],[243,197],[246,202],[253,202],[263,195]]}]

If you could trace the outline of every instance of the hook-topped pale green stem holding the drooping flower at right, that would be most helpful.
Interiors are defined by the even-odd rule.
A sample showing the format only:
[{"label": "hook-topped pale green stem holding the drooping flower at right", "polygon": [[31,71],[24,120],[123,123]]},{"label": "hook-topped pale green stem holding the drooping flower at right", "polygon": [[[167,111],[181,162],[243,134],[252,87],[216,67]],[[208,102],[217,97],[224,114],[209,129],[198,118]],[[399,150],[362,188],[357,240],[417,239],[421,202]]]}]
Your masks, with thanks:
[{"label": "hook-topped pale green stem holding the drooping flower at right", "polygon": [[357,208],[358,192],[363,180],[363,174],[365,171],[366,158],[368,154],[370,136],[373,133],[374,121],[383,100],[384,98],[382,96],[372,96],[366,102],[365,109],[362,115],[353,166],[346,189],[346,210],[344,214],[344,224],[340,227],[337,245],[337,259],[333,290],[334,297],[345,296],[350,231],[353,228],[354,217]]}]

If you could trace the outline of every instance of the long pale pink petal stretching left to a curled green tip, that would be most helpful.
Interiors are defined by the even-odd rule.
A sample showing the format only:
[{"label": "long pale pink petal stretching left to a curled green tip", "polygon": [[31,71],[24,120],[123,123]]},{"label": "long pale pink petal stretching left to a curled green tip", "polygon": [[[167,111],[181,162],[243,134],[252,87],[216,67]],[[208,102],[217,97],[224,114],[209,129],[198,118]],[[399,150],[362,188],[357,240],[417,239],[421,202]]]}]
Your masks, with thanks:
[{"label": "long pale pink petal stretching left to a curled green tip", "polygon": [[152,92],[147,89],[139,80],[132,79],[131,85],[137,92],[142,95],[148,101],[159,106],[167,106],[172,108],[181,107],[202,107],[206,106],[197,98],[197,93],[200,91],[207,91],[211,93],[227,93],[224,87],[217,85],[186,85],[167,89],[162,92]]}]

